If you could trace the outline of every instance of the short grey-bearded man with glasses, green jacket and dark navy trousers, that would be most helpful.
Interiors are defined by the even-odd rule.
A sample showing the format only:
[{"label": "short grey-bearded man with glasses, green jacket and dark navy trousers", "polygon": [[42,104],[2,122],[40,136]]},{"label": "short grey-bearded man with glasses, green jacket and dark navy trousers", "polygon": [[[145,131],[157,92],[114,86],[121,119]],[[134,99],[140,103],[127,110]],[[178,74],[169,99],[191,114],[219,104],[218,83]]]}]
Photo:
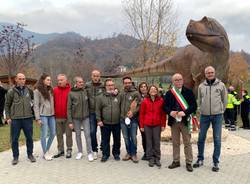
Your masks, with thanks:
[{"label": "short grey-bearded man with glasses, green jacket and dark navy trousers", "polygon": [[115,84],[112,79],[105,81],[105,92],[97,97],[96,119],[101,127],[102,135],[102,159],[106,162],[110,156],[110,135],[113,134],[114,159],[120,160],[121,127],[120,127],[120,95],[115,92]]}]

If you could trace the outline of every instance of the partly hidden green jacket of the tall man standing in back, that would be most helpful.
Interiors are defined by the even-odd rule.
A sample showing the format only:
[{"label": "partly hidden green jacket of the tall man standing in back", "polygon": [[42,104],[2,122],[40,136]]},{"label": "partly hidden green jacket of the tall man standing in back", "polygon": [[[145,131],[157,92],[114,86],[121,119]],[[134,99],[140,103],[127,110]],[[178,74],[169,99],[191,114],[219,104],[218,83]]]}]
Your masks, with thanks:
[{"label": "partly hidden green jacket of the tall man standing in back", "polygon": [[92,81],[87,82],[85,89],[87,90],[89,97],[89,110],[91,113],[95,112],[96,97],[105,91],[105,88],[101,82],[94,84]]}]

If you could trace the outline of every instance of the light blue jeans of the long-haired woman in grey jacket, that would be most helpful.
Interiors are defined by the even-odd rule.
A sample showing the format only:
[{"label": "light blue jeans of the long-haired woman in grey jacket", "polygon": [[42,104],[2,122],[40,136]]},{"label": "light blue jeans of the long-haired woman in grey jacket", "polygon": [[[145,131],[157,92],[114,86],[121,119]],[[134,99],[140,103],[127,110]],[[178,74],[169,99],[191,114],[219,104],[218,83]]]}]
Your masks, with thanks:
[{"label": "light blue jeans of the long-haired woman in grey jacket", "polygon": [[[40,129],[40,139],[41,145],[43,149],[43,153],[45,154],[49,151],[49,148],[53,142],[53,139],[56,135],[56,120],[54,116],[41,116],[41,129]],[[48,135],[48,128],[49,128],[49,139],[47,139]]]}]

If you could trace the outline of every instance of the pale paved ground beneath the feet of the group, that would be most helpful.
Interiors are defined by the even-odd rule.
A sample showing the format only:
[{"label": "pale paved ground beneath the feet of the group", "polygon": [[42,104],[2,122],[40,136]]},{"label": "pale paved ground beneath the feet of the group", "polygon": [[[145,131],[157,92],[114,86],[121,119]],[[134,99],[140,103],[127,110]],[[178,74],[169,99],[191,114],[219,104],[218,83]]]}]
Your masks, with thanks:
[{"label": "pale paved ground beneath the feet of the group", "polygon": [[[140,135],[138,135],[138,156],[142,156]],[[101,163],[100,158],[94,162],[88,162],[86,158],[75,160],[76,149],[73,150],[73,158],[58,158],[53,161],[45,161],[41,158],[40,142],[34,145],[36,163],[30,163],[26,159],[26,148],[20,148],[20,162],[12,166],[11,151],[0,153],[0,184],[50,184],[50,183],[100,183],[100,184],[140,184],[140,183],[164,183],[164,184],[249,184],[250,183],[250,131],[240,129],[229,134],[226,142],[222,144],[221,170],[218,173],[211,171],[211,152],[213,144],[206,146],[205,165],[195,169],[193,173],[185,170],[185,162],[182,153],[182,166],[169,170],[166,168],[172,161],[171,143],[162,143],[162,168],[150,168],[147,162],[140,161],[134,164],[131,161],[114,161],[112,157]],[[56,153],[56,139],[53,143],[53,152]],[[183,152],[183,146],[182,150]],[[197,155],[197,146],[193,145],[194,158]],[[125,154],[122,143],[122,156]],[[86,156],[86,153],[84,154]],[[99,155],[101,156],[101,154]],[[194,159],[195,160],[195,159]]]}]

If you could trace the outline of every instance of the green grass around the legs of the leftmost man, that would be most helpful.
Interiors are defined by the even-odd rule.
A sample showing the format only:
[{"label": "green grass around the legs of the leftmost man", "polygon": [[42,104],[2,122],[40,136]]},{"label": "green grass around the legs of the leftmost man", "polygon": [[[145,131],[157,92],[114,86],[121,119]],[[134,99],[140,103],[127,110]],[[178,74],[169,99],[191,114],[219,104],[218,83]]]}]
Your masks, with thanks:
[{"label": "green grass around the legs of the leftmost man", "polygon": [[[40,127],[33,122],[33,140],[37,141],[40,139]],[[25,144],[25,136],[23,131],[21,131],[20,138],[19,138],[19,146]],[[11,148],[10,145],[10,126],[5,125],[0,127],[0,152],[6,151]]]}]

